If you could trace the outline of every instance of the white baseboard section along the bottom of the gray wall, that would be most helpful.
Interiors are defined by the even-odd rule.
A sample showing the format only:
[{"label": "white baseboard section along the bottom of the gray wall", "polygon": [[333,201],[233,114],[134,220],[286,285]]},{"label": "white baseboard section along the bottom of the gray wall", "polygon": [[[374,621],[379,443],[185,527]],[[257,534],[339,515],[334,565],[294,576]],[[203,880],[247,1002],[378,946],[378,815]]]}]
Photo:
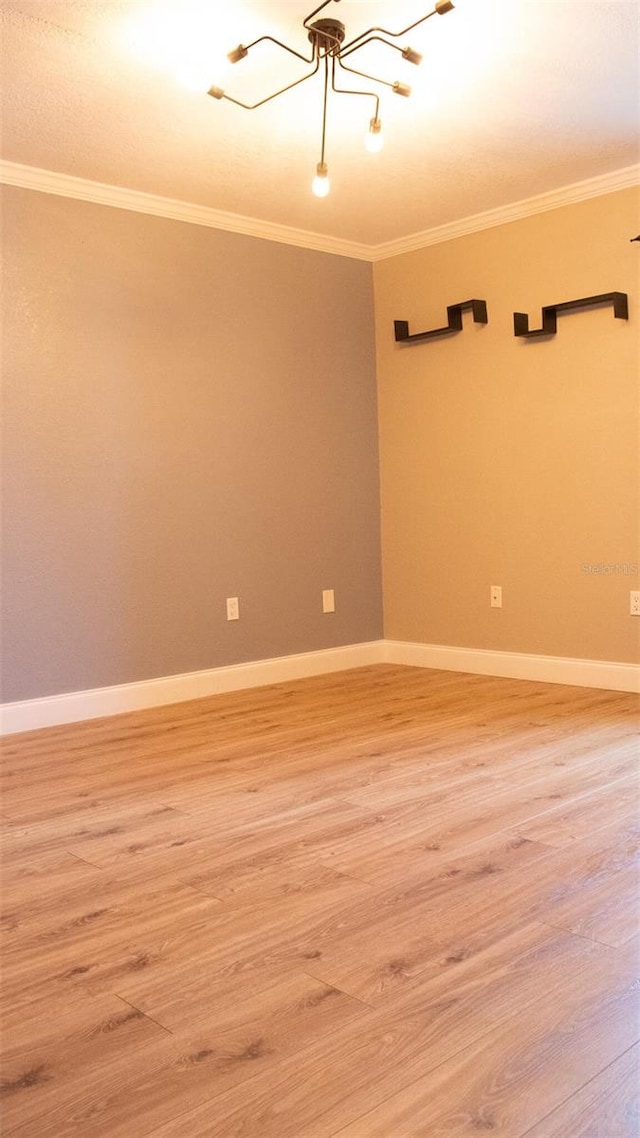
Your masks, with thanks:
[{"label": "white baseboard section along the bottom of the gray wall", "polygon": [[362,668],[384,662],[384,641],[347,644],[319,652],[281,655],[272,660],[253,660],[205,671],[189,671],[180,676],[162,676],[134,684],[95,687],[87,692],[66,692],[43,699],[20,700],[0,708],[0,735],[38,727],[54,727],[82,719],[141,711],[165,703],[181,703],[205,695],[236,692],[245,687],[264,687],[287,679],[321,676],[346,668]]}]

